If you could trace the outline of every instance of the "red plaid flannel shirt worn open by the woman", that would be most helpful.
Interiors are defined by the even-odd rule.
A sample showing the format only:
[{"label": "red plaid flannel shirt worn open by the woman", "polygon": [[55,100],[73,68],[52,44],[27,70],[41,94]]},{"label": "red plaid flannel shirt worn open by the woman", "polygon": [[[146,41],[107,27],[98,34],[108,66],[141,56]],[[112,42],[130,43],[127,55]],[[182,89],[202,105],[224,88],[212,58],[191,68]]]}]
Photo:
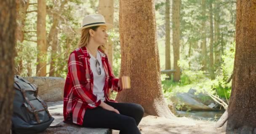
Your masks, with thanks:
[{"label": "red plaid flannel shirt worn open by the woman", "polygon": [[[109,99],[109,89],[119,92],[118,79],[112,73],[107,56],[100,51],[101,61],[106,73],[104,94]],[[64,121],[83,125],[83,117],[87,108],[96,108],[101,103],[93,95],[93,73],[90,68],[90,55],[86,47],[79,47],[69,56],[68,74],[64,86]]]}]

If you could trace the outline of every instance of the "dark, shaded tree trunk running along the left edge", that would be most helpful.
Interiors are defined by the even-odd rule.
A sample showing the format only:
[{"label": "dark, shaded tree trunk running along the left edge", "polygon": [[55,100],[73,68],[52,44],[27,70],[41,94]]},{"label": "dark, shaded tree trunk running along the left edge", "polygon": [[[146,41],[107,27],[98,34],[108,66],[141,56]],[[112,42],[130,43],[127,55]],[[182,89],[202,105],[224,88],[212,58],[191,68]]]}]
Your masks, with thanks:
[{"label": "dark, shaded tree trunk running along the left edge", "polygon": [[0,13],[0,131],[1,134],[10,134],[16,54],[16,0],[2,0]]}]

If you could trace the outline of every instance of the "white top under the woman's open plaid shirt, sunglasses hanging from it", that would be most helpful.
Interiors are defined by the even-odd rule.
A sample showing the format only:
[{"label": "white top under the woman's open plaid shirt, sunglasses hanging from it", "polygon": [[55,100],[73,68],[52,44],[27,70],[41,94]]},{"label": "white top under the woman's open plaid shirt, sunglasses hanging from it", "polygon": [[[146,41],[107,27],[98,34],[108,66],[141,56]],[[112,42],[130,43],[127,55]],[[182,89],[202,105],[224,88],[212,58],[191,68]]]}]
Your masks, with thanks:
[{"label": "white top under the woman's open plaid shirt, sunglasses hanging from it", "polygon": [[[90,53],[89,53],[90,54]],[[97,67],[101,68],[101,75],[98,74],[97,68],[96,68],[96,58],[91,55],[90,58],[90,67],[91,71],[93,72],[93,95],[97,96],[97,101],[105,101],[104,97],[104,85],[105,85],[105,79],[106,79],[106,73],[104,71],[102,61],[101,61],[101,55],[97,51],[96,58],[99,61],[100,66],[97,65]]]}]

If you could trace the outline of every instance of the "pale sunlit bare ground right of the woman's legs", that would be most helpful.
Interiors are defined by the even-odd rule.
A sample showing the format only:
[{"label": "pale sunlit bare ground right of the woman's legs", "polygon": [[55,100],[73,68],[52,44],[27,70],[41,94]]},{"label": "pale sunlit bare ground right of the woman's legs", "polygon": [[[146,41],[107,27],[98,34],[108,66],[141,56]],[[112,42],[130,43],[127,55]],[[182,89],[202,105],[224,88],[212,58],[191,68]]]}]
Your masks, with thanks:
[{"label": "pale sunlit bare ground right of the woman's legs", "polygon": [[[141,134],[226,134],[226,130],[214,128],[214,123],[186,117],[144,116],[138,127]],[[119,134],[119,131],[113,130],[113,134]]]}]

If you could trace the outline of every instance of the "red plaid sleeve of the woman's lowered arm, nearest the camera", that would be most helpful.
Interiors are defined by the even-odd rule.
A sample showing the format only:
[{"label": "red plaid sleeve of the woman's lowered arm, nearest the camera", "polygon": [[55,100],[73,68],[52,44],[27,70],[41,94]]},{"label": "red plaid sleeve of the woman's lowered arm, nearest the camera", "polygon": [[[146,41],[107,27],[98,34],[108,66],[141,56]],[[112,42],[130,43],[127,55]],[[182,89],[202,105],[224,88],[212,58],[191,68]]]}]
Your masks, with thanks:
[{"label": "red plaid sleeve of the woman's lowered arm, nearest the camera", "polygon": [[69,76],[73,83],[73,90],[77,93],[77,96],[83,101],[88,103],[90,106],[88,108],[95,108],[99,106],[101,100],[97,101],[96,95],[91,92],[91,82],[90,79],[86,80],[85,68],[83,62],[75,52],[71,53],[69,56],[68,63]]}]

